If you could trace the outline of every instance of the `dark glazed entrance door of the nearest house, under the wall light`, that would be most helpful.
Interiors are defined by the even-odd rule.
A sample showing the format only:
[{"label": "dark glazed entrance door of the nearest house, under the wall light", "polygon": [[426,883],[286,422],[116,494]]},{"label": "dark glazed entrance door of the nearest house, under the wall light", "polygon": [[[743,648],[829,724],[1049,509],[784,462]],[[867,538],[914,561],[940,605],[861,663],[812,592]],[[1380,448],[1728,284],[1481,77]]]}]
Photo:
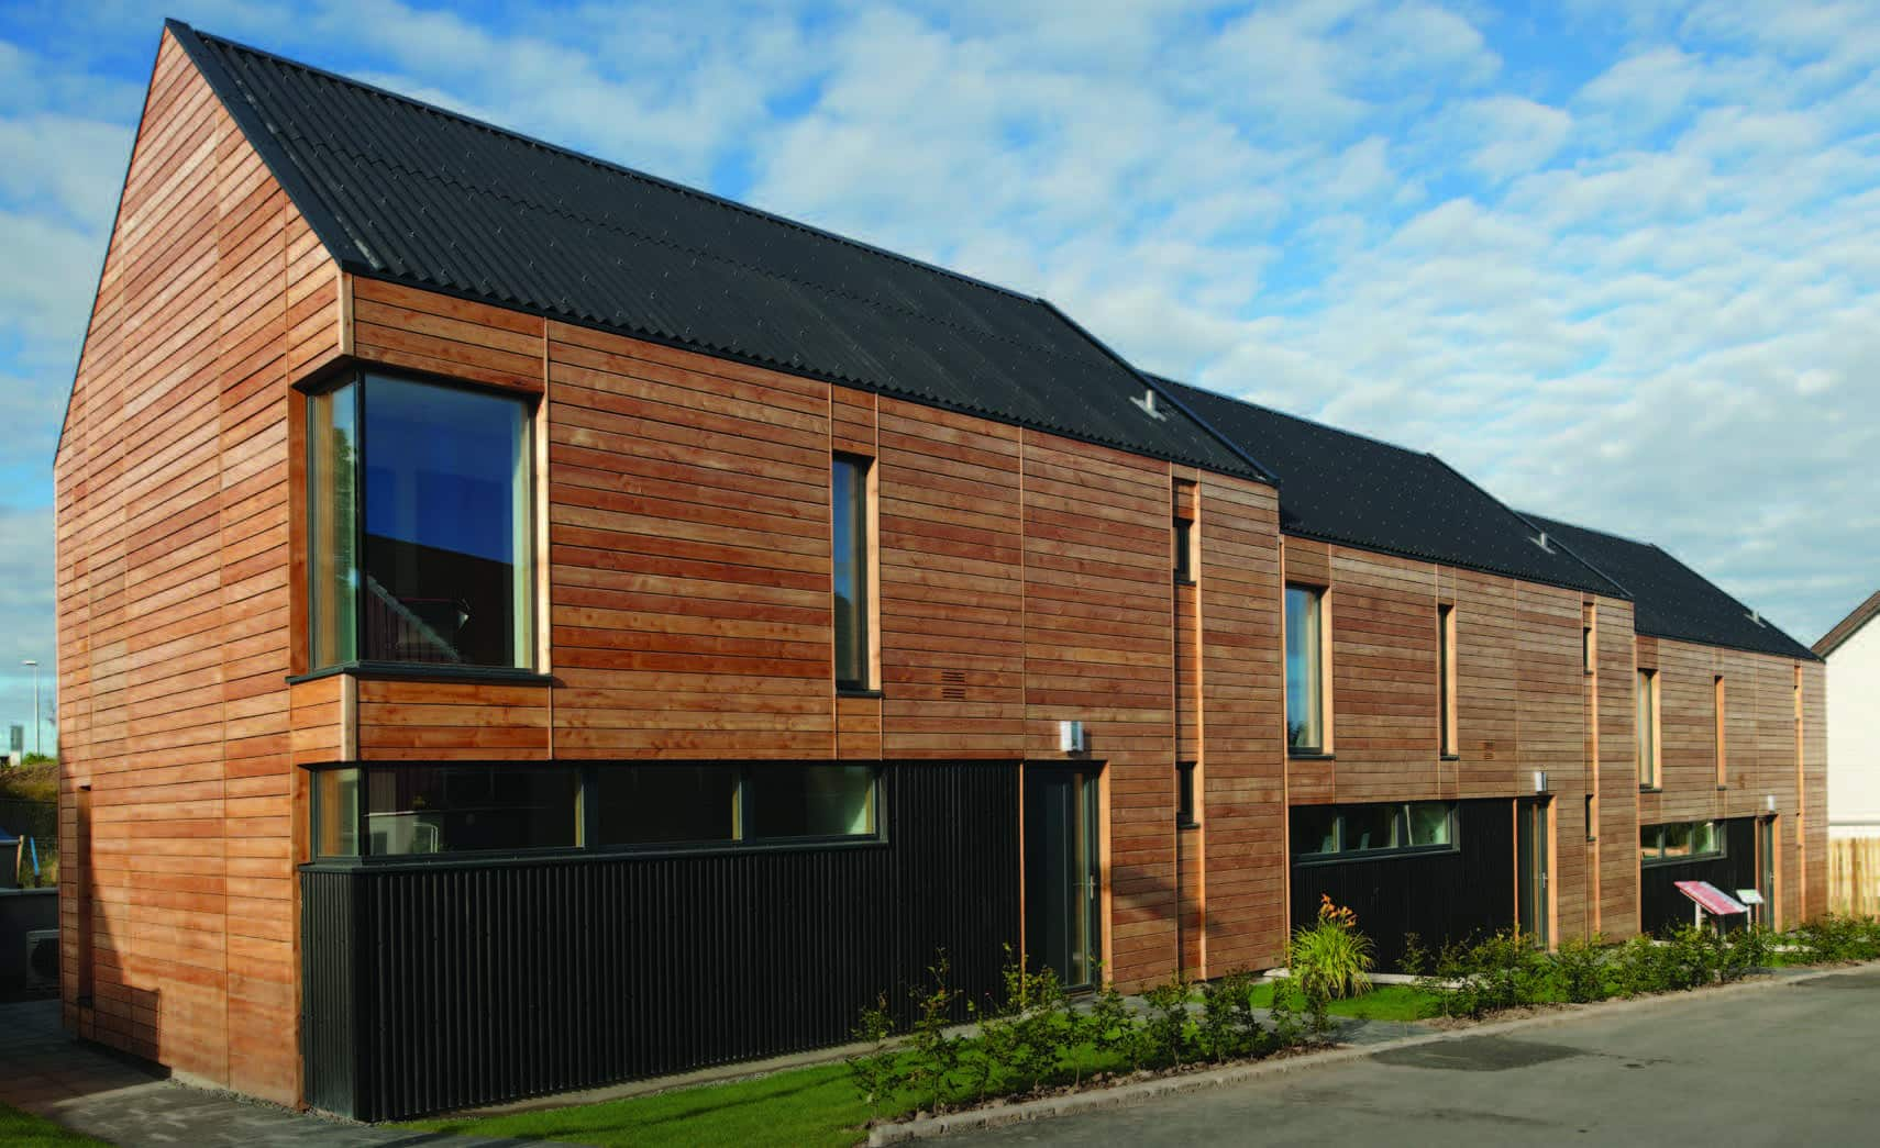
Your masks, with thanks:
[{"label": "dark glazed entrance door of the nearest house, under the wall light", "polygon": [[1025,767],[1025,956],[1066,988],[1096,981],[1096,770]]}]

